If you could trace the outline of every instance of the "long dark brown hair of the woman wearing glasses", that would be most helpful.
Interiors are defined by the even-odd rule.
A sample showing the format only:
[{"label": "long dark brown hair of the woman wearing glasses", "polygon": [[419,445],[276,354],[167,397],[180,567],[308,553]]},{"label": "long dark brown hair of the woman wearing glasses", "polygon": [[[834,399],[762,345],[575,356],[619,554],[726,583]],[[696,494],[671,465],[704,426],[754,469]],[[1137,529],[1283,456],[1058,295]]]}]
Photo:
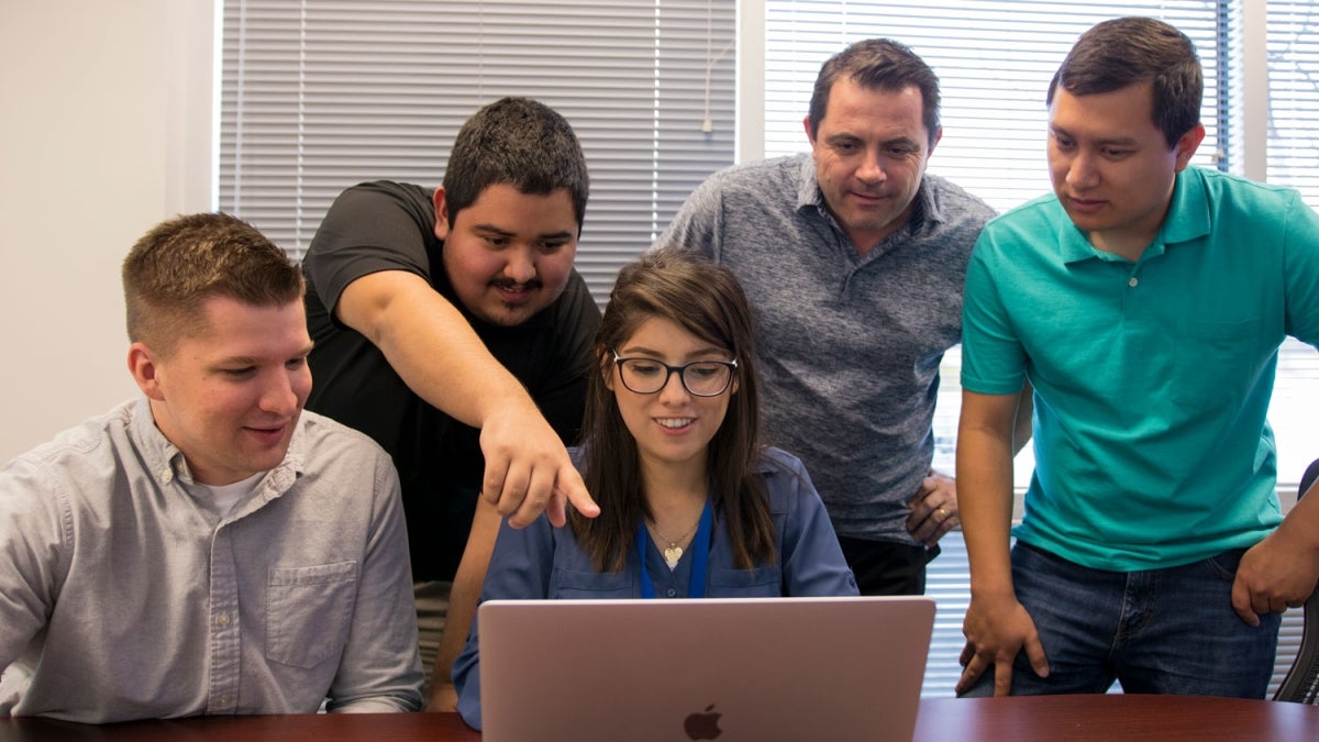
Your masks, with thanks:
[{"label": "long dark brown hair of the woman wearing glasses", "polygon": [[772,561],[774,522],[757,467],[762,445],[751,308],[731,271],[681,247],[657,250],[625,265],[609,293],[596,334],[598,372],[588,382],[582,426],[582,477],[600,504],[600,515],[588,519],[574,511],[568,519],[572,533],[596,569],[617,572],[636,545],[637,524],[652,515],[642,496],[637,442],[605,378],[615,372],[611,350],[653,317],[670,320],[737,359],[728,412],[710,441],[710,489],[727,520],[735,564],[752,569]]}]

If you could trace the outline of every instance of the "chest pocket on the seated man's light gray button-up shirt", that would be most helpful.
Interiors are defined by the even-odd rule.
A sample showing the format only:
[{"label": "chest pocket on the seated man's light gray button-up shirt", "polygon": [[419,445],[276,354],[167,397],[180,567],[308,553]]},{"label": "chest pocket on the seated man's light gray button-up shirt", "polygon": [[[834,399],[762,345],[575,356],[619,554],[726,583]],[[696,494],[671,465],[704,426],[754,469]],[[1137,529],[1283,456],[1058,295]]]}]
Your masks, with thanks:
[{"label": "chest pocket on the seated man's light gray button-up shirt", "polygon": [[302,669],[331,658],[338,661],[348,640],[356,594],[356,561],[270,569],[265,656]]}]

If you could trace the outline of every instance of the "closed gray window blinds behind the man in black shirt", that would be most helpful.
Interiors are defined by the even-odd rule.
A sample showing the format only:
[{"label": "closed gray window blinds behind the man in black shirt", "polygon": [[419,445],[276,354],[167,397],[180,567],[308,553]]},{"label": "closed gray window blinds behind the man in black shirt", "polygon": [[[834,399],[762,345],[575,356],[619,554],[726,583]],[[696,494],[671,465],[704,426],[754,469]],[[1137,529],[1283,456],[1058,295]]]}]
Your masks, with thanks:
[{"label": "closed gray window blinds behind the man in black shirt", "polygon": [[619,265],[732,162],[733,33],[733,0],[226,3],[220,209],[301,256],[344,187],[439,185],[463,121],[526,95],[582,140],[578,268],[603,302]]}]

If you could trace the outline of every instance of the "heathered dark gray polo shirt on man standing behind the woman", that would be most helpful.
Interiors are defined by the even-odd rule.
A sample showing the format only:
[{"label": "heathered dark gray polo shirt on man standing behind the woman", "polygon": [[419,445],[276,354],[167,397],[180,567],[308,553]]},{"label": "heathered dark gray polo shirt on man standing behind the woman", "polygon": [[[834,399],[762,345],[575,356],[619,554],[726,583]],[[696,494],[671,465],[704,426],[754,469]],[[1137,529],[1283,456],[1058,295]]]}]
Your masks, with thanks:
[{"label": "heathered dark gray polo shirt on man standing behind the woman", "polygon": [[656,243],[737,275],[756,313],[766,441],[806,462],[839,535],[915,543],[904,520],[934,454],[939,362],[962,341],[967,261],[992,217],[926,174],[910,223],[861,257],[803,153],[715,173]]}]

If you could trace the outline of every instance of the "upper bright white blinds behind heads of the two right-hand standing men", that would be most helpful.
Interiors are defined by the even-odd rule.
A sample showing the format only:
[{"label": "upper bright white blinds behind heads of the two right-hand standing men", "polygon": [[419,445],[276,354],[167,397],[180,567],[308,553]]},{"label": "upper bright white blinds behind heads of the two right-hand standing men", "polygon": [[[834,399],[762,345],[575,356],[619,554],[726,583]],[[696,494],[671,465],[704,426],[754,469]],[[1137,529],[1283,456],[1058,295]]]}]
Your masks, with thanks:
[{"label": "upper bright white blinds behind heads of the two right-hand standing men", "polygon": [[1212,165],[1225,45],[1224,8],[1213,0],[768,0],[765,152],[809,148],[802,118],[824,59],[852,41],[889,37],[939,75],[943,140],[930,172],[1004,211],[1050,189],[1045,94],[1058,65],[1086,29],[1122,15],[1161,17],[1195,42],[1208,129],[1198,162]]}]

